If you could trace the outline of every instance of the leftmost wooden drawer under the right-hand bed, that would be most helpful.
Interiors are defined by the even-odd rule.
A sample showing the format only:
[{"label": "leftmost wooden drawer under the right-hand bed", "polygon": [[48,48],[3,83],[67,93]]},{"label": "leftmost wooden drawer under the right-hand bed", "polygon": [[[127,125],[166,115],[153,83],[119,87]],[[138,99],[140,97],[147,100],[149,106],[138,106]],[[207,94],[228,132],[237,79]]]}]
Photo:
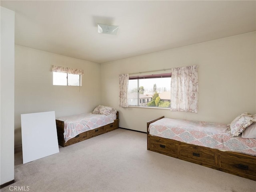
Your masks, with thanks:
[{"label": "leftmost wooden drawer under the right-hand bed", "polygon": [[177,145],[164,138],[150,137],[150,148],[168,154],[177,154]]}]

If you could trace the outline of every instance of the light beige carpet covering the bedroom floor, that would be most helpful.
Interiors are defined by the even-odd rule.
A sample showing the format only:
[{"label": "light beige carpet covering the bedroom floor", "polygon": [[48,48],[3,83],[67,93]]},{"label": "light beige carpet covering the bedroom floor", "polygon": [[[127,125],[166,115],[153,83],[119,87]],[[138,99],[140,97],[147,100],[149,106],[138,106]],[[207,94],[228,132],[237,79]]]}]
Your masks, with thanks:
[{"label": "light beige carpet covering the bedroom floor", "polygon": [[145,133],[125,129],[26,164],[16,148],[15,180],[1,192],[256,191],[256,181],[148,151]]}]

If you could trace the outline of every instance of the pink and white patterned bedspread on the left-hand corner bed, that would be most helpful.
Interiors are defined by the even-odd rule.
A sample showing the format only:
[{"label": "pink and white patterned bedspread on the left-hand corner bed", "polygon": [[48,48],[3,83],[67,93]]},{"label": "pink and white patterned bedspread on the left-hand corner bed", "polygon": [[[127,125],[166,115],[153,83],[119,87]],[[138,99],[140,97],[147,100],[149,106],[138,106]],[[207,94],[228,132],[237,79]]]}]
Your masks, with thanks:
[{"label": "pink and white patterned bedspread on the left-hand corner bed", "polygon": [[116,114],[98,115],[92,113],[57,118],[57,120],[64,121],[65,142],[85,131],[113,123],[114,119],[116,119]]}]

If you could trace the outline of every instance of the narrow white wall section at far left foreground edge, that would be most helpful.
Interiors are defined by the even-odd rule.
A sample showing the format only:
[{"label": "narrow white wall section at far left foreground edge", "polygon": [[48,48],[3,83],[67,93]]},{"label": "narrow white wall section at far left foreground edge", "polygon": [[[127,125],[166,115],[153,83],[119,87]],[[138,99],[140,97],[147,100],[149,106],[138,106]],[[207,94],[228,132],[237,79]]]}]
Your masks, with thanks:
[{"label": "narrow white wall section at far left foreground edge", "polygon": [[1,8],[0,61],[0,182],[14,180],[14,20],[15,13]]}]

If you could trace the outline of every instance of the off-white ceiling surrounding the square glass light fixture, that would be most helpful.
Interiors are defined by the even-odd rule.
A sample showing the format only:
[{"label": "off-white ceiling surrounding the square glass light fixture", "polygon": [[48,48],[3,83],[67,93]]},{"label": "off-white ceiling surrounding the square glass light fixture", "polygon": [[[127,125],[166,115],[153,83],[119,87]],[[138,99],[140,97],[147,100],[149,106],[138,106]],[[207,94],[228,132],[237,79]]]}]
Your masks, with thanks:
[{"label": "off-white ceiling surrounding the square glass light fixture", "polygon": [[[15,44],[96,63],[256,31],[256,1],[5,1]],[[97,23],[120,26],[99,34]]]}]

